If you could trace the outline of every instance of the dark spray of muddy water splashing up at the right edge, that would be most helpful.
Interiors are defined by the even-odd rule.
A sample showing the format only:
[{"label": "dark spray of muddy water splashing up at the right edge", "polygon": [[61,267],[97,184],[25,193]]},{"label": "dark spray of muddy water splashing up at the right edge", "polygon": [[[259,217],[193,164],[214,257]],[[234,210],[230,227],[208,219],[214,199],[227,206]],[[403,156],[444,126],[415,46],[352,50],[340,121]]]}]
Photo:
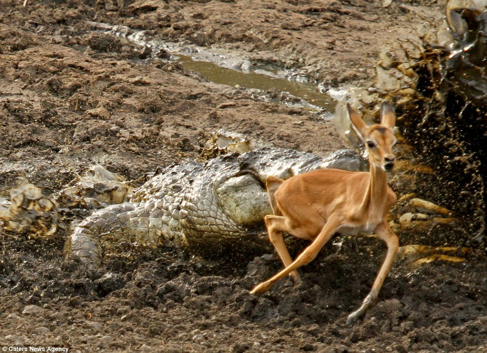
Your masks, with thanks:
[{"label": "dark spray of muddy water splashing up at the right edge", "polygon": [[381,56],[375,87],[381,99],[396,102],[416,163],[431,168],[418,174],[416,192],[457,216],[449,230],[431,230],[430,240],[485,249],[487,7],[452,1],[445,13],[443,25],[424,24],[402,43],[402,60],[392,49]]}]

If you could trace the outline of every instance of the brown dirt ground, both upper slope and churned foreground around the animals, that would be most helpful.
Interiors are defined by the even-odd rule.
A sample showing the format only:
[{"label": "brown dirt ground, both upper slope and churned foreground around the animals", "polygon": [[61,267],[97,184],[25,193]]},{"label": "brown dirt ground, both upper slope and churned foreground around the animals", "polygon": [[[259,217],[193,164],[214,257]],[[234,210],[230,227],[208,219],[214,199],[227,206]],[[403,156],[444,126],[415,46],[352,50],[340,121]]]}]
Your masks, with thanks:
[{"label": "brown dirt ground, both upper slope and churned foreground around the animals", "polygon": [[[136,180],[201,158],[225,128],[256,144],[326,156],[346,147],[317,113],[208,82],[87,21],[225,51],[333,87],[368,86],[382,46],[444,1],[0,1],[0,196],[27,180],[59,191],[100,163]],[[267,92],[278,96],[276,92]],[[81,217],[78,215],[77,217]],[[76,215],[73,216],[76,218]],[[64,261],[69,227],[50,240],[3,235],[0,345],[69,351],[485,352],[487,258],[413,263],[398,256],[363,321],[346,317],[367,295],[385,253],[370,237],[340,237],[301,270],[303,284],[249,295],[280,269],[275,254],[198,259],[174,249],[113,256],[100,270]],[[341,245],[340,245],[341,244]],[[404,245],[404,244],[403,244]]]}]

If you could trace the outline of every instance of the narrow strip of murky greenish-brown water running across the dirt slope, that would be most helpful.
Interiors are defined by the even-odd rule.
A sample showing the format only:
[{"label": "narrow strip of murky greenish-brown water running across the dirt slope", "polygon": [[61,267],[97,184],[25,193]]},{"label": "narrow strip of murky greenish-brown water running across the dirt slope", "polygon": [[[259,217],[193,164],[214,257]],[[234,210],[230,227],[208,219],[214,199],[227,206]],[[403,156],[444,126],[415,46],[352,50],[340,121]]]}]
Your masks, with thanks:
[{"label": "narrow strip of murky greenish-brown water running across the dirt slope", "polygon": [[152,57],[160,51],[165,51],[170,55],[170,60],[181,62],[184,69],[197,72],[215,83],[256,89],[262,91],[263,96],[268,96],[269,91],[279,91],[285,93],[288,99],[280,98],[278,101],[323,112],[325,117],[331,115],[330,112],[334,111],[337,103],[318,85],[307,82],[306,78],[293,71],[262,68],[258,63],[252,63],[249,59],[234,54],[216,54],[194,45],[151,38],[144,31],[135,31],[127,26],[112,26],[90,21],[87,24],[95,30],[125,37],[138,46],[150,48]]}]

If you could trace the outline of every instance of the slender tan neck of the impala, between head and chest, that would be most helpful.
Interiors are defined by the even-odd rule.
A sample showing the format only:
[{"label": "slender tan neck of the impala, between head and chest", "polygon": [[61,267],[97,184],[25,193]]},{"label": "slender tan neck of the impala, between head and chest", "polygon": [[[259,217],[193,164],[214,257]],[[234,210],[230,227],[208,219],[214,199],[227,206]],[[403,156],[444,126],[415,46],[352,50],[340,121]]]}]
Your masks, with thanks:
[{"label": "slender tan neck of the impala, between head and chest", "polygon": [[363,198],[361,209],[369,212],[382,211],[387,197],[387,173],[381,167],[375,166],[372,161],[370,163],[369,186]]}]

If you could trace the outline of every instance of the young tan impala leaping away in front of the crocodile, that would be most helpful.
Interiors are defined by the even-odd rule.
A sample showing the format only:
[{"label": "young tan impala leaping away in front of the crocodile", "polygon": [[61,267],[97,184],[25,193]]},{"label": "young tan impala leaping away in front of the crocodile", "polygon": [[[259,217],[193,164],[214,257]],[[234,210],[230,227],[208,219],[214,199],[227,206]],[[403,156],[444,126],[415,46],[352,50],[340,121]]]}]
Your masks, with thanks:
[{"label": "young tan impala leaping away in front of the crocodile", "polygon": [[[385,277],[399,247],[399,239],[387,224],[386,215],[396,201],[396,195],[387,185],[387,172],[394,168],[392,147],[396,138],[392,132],[395,113],[392,106],[383,103],[381,123],[368,126],[348,105],[350,120],[369,152],[370,171],[352,172],[339,169],[314,170],[283,181],[267,178],[267,191],[273,215],[264,220],[271,243],[277,250],[285,269],[257,285],[252,294],[268,291],[276,281],[291,275],[299,282],[296,271],[312,261],[323,245],[336,233],[375,233],[387,244],[387,255],[362,305],[348,316],[347,324],[374,306]],[[308,239],[308,245],[293,261],[284,243],[282,233]]]}]

